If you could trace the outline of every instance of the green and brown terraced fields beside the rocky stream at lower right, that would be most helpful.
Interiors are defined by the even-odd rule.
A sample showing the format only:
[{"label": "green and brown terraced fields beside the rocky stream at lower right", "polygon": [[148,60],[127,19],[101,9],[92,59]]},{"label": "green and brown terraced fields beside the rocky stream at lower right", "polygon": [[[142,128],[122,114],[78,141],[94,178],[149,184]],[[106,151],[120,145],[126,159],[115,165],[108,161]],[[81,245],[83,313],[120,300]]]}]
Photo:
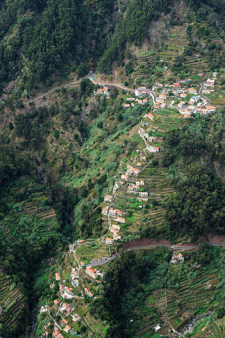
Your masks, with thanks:
[{"label": "green and brown terraced fields beside the rocky stream at lower right", "polygon": [[[171,270],[176,269],[176,266],[171,266]],[[212,274],[206,276],[203,271],[197,271],[197,279],[192,282],[191,280],[181,280],[176,284],[176,289],[158,289],[153,291],[146,299],[143,307],[137,307],[132,314],[134,321],[132,322],[133,329],[139,335],[143,335],[152,330],[152,328],[159,323],[161,329],[158,333],[165,335],[170,329],[169,322],[175,330],[184,323],[190,321],[196,310],[206,312],[207,307],[212,303],[214,290],[219,284],[218,275]],[[209,284],[212,288],[210,289]],[[169,322],[168,322],[169,320]],[[221,320],[225,325],[225,321]],[[217,332],[219,335],[220,330],[211,327],[213,335]]]}]

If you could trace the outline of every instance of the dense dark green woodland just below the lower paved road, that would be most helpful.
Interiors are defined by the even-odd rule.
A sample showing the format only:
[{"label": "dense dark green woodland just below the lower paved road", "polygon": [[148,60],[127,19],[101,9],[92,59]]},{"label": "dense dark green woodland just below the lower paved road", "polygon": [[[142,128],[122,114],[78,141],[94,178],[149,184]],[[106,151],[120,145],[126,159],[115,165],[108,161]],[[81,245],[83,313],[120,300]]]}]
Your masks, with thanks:
[{"label": "dense dark green woodland just below the lower paved road", "polygon": [[186,278],[193,283],[197,281],[197,272],[191,265],[200,264],[206,274],[211,273],[208,270],[210,265],[212,272],[219,275],[220,284],[213,296],[222,303],[221,309],[217,308],[211,316],[210,320],[213,321],[219,311],[224,314],[224,254],[223,247],[214,250],[211,246],[198,245],[196,250],[184,253],[185,263],[173,267],[168,263],[171,251],[166,248],[123,252],[118,260],[107,267],[100,296],[88,305],[88,309],[95,318],[110,322],[113,335],[138,338],[132,321],[141,314],[135,309],[144,308],[147,297],[154,290],[179,290],[182,288],[179,284]]}]

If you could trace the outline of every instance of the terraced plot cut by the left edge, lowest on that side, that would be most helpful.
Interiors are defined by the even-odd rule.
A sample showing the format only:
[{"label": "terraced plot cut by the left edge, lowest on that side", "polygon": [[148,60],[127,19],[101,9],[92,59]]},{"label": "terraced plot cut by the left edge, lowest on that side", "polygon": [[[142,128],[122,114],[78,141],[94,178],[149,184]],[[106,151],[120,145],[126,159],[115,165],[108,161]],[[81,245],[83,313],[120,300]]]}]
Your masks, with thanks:
[{"label": "terraced plot cut by the left edge, lowest on that side", "polygon": [[23,300],[23,295],[15,283],[10,282],[9,276],[0,270],[1,324],[6,331],[13,327],[16,318],[23,311]]}]

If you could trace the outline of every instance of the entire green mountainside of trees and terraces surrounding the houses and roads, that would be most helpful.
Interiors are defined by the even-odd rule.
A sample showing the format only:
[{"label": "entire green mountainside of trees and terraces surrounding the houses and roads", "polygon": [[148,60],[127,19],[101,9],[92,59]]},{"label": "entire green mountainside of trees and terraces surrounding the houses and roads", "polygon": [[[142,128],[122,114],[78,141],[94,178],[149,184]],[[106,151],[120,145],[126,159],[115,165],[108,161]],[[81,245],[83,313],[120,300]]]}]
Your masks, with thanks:
[{"label": "entire green mountainside of trees and terraces surrounding the houses and roads", "polygon": [[[222,0],[12,0],[0,6],[0,336],[25,338],[32,332],[39,338],[44,331],[38,311],[46,301],[53,305],[58,292],[58,284],[49,287],[53,270],[69,265],[65,269],[71,271],[76,264],[74,256],[67,261],[69,244],[99,239],[83,246],[84,252],[79,247],[85,264],[97,250],[95,259],[110,253],[108,245],[101,247],[109,234],[102,208],[115,182],[123,189],[114,205],[124,211],[126,223],[113,250],[142,238],[173,244],[224,235],[225,8]],[[94,95],[100,84],[76,81],[89,70],[98,81],[130,89],[188,77],[197,88],[203,81],[198,73],[211,77],[216,71],[216,91],[208,96],[216,112],[183,121],[174,106],[157,110],[150,96],[146,104],[136,104],[134,93],[121,86]],[[135,104],[125,107],[127,99]],[[154,121],[146,122],[149,113]],[[146,149],[141,123],[149,126],[159,154]],[[130,198],[126,182],[120,183],[137,158],[139,168],[145,167],[136,177],[145,181],[140,191],[150,192],[145,201]],[[195,259],[205,268],[196,273],[189,263],[170,268],[171,252],[164,248],[122,251],[118,261],[107,263],[101,286],[94,285],[93,302],[79,298],[107,327],[106,337],[141,336],[139,311],[149,294],[163,288],[178,292],[186,274],[191,288],[203,272],[208,275],[210,260],[223,283],[222,262],[216,264],[223,249],[199,247],[197,258],[185,254],[190,264]],[[222,290],[215,290],[216,306],[224,302]],[[160,319],[154,307],[149,316],[155,324]]]}]

